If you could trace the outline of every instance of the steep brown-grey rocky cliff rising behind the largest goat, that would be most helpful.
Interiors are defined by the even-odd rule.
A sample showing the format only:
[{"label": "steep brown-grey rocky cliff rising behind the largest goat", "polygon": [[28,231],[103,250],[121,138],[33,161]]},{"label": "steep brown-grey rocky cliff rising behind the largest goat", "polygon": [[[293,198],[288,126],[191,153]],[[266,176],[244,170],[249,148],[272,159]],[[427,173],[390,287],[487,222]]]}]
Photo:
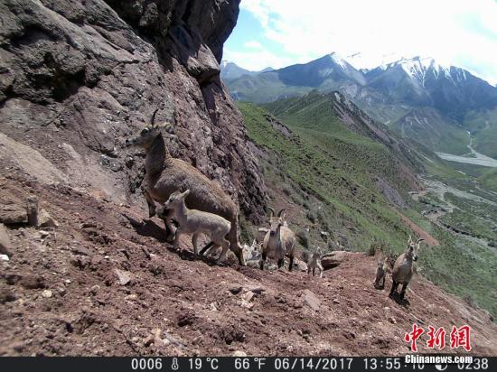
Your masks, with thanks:
[{"label": "steep brown-grey rocky cliff rising behind the largest goat", "polygon": [[123,144],[159,108],[178,138],[170,152],[258,220],[264,183],[220,81],[238,12],[239,0],[2,0],[3,165],[143,203],[143,155]]}]

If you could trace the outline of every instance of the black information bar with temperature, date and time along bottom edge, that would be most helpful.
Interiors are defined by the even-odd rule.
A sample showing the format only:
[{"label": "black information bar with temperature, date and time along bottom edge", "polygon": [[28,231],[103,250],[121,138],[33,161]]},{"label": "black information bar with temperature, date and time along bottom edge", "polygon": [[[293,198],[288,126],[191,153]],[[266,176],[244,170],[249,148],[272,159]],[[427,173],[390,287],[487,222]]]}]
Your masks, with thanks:
[{"label": "black information bar with temperature, date and time along bottom edge", "polygon": [[[446,356],[445,356],[446,357]],[[453,358],[455,356],[452,356]],[[409,364],[404,357],[3,357],[0,371],[192,371],[192,372],[290,372],[290,371],[495,371],[496,357],[474,357],[471,364]]]}]

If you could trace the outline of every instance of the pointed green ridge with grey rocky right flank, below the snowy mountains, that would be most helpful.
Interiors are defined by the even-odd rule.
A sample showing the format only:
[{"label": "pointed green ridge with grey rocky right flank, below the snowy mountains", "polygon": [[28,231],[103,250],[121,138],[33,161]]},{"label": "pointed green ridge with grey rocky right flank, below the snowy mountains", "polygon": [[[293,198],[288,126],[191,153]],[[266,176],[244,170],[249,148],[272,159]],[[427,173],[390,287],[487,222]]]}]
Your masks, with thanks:
[{"label": "pointed green ridge with grey rocky right flank, below the snowy mountains", "polygon": [[339,159],[359,166],[370,178],[384,178],[400,192],[417,188],[414,172],[422,168],[417,153],[342,94],[314,91],[264,107],[311,143],[333,149]]}]

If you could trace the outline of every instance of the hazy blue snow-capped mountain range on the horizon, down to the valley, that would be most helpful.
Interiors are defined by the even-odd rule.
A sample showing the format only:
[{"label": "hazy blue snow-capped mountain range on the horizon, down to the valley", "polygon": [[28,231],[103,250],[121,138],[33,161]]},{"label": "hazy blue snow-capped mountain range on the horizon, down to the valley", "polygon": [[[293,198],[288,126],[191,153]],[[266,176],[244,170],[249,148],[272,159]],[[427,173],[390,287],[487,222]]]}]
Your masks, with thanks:
[{"label": "hazy blue snow-capped mountain range on the horizon, down to the valley", "polygon": [[[234,70],[230,63],[230,70]],[[236,66],[236,65],[235,65]],[[317,89],[339,90],[372,118],[399,135],[425,141],[433,151],[467,153],[474,148],[489,156],[497,151],[497,88],[471,72],[432,58],[414,57],[358,70],[337,53],[283,69],[222,74],[233,98],[257,104],[300,97]],[[413,130],[413,127],[416,130]]]}]

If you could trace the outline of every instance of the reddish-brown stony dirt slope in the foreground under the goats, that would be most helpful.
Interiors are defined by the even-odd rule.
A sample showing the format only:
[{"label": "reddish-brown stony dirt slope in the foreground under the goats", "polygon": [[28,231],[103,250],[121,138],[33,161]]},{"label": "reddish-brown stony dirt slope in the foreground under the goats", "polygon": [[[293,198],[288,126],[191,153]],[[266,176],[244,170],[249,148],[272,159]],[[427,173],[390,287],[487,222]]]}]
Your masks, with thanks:
[{"label": "reddish-brown stony dirt slope in the foreground under the goats", "polygon": [[323,279],[220,267],[173,253],[159,220],[142,223],[145,209],[21,176],[0,187],[1,203],[37,194],[60,223],[46,237],[9,228],[0,355],[399,355],[415,321],[445,330],[467,323],[474,353],[497,355],[488,313],[419,276],[410,304],[400,305],[373,288],[374,257],[347,254]]}]

